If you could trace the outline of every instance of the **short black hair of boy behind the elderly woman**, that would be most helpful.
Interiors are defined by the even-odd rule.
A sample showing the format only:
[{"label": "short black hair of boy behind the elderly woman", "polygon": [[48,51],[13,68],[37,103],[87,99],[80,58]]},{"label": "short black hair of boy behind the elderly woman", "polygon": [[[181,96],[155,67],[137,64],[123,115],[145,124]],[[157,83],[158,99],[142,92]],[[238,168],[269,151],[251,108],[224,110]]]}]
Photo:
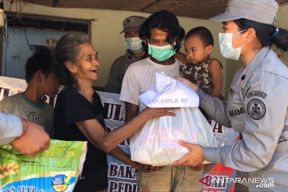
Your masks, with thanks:
[{"label": "short black hair of boy behind the elderly woman", "polygon": [[54,72],[52,54],[36,53],[29,57],[25,64],[25,80],[28,83],[37,71],[41,71],[45,77]]}]

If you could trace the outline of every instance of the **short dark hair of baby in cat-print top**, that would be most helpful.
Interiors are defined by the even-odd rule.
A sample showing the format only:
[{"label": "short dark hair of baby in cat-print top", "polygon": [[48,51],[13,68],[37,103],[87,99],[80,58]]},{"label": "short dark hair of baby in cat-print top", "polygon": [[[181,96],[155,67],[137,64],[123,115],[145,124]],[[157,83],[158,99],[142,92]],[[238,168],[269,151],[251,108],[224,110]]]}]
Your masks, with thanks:
[{"label": "short dark hair of baby in cat-print top", "polygon": [[206,27],[195,27],[191,29],[186,34],[184,41],[190,37],[199,37],[204,47],[207,47],[208,45],[214,46],[213,36],[211,32],[209,31],[209,29],[207,29]]}]

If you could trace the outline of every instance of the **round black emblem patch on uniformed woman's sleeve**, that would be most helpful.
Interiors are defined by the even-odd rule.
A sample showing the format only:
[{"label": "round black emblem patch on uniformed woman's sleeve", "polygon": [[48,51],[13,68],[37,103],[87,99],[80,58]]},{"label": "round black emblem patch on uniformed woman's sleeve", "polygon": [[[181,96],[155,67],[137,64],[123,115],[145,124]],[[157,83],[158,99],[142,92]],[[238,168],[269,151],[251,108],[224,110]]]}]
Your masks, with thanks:
[{"label": "round black emblem patch on uniformed woman's sleeve", "polygon": [[262,119],[266,113],[266,106],[261,100],[252,99],[248,102],[247,111],[252,119]]}]

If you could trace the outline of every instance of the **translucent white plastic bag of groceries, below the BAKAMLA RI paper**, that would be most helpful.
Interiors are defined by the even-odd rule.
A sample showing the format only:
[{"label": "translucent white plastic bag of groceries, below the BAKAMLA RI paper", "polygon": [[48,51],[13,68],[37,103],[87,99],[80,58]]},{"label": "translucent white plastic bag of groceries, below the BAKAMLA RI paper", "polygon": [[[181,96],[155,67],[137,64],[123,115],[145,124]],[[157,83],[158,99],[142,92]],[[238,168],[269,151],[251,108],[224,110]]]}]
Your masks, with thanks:
[{"label": "translucent white plastic bag of groceries, below the BAKAMLA RI paper", "polygon": [[172,111],[176,117],[150,119],[130,137],[131,160],[153,166],[166,166],[181,159],[189,149],[178,141],[216,147],[212,128],[198,107]]}]

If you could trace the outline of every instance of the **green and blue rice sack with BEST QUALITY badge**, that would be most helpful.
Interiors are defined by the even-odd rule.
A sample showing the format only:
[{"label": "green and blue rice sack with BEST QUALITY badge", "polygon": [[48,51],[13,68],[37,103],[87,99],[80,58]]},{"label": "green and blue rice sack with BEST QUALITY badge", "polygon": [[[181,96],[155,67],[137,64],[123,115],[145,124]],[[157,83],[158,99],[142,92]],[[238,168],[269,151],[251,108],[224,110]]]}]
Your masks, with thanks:
[{"label": "green and blue rice sack with BEST QUALITY badge", "polygon": [[87,142],[50,140],[35,157],[20,154],[11,145],[0,146],[0,191],[73,191],[82,172]]}]

